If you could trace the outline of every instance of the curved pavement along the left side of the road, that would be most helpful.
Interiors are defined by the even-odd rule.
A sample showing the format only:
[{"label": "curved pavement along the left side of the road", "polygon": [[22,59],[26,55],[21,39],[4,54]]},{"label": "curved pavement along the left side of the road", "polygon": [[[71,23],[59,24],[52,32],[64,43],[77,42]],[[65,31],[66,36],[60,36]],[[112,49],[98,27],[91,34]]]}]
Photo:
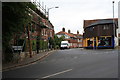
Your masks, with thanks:
[{"label": "curved pavement along the left side of the road", "polygon": [[44,57],[50,55],[53,51],[55,51],[55,50],[51,50],[51,51],[47,51],[47,52],[40,52],[39,54],[35,54],[34,56],[32,56],[32,58],[27,57],[16,63],[3,64],[2,70],[6,71],[6,70],[11,70],[11,69],[15,69],[15,68],[19,68],[22,66],[32,64],[32,63],[39,61],[39,60],[43,59]]}]

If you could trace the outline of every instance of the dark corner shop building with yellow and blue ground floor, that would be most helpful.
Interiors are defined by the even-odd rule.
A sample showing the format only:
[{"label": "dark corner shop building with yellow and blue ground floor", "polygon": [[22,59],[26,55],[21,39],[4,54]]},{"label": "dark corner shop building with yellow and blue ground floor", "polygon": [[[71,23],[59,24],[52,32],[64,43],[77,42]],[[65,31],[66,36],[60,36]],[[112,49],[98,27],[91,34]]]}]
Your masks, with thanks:
[{"label": "dark corner shop building with yellow and blue ground floor", "polygon": [[83,28],[85,48],[114,48],[118,44],[118,18],[84,20]]}]

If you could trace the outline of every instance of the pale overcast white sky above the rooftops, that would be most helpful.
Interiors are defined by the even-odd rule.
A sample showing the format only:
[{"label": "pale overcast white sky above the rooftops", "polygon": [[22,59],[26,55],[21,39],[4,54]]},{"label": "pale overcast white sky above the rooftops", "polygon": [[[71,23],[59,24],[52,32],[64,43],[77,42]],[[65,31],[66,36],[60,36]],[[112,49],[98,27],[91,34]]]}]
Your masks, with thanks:
[{"label": "pale overcast white sky above the rooftops", "polygon": [[[113,0],[40,0],[49,10],[49,20],[54,25],[55,33],[62,31],[76,34],[83,33],[83,21],[113,18]],[[114,17],[118,18],[118,2],[114,0]]]}]

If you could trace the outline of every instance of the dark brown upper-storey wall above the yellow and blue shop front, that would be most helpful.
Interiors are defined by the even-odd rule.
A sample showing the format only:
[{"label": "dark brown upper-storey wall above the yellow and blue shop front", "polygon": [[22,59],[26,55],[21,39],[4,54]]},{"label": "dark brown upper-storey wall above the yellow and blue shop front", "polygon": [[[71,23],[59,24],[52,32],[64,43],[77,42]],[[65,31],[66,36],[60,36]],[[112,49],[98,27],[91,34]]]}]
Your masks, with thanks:
[{"label": "dark brown upper-storey wall above the yellow and blue shop front", "polygon": [[[104,29],[108,27],[108,29]],[[105,25],[96,25],[93,27],[88,27],[85,29],[84,38],[92,38],[97,36],[111,36],[113,35],[113,24],[105,24]]]}]

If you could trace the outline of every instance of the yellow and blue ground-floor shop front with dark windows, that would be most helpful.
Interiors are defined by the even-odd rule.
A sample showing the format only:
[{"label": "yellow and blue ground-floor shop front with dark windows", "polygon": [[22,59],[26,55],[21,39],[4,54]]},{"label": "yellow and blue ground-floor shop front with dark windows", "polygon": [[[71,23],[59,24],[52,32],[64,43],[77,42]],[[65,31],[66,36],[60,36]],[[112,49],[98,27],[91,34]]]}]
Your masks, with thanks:
[{"label": "yellow and blue ground-floor shop front with dark windows", "polygon": [[114,48],[114,38],[112,36],[85,38],[83,44],[85,48]]}]

